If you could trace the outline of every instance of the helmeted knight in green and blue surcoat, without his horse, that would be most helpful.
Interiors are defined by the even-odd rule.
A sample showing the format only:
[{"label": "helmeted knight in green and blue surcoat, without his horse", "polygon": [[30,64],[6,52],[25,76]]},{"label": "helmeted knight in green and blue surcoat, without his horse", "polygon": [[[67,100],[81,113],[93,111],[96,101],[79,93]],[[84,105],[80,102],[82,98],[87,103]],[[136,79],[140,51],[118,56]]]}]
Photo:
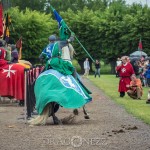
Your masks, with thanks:
[{"label": "helmeted knight in green and blue surcoat, without his horse", "polygon": [[51,35],[49,38],[49,44],[42,51],[40,59],[44,59],[46,62],[45,70],[52,68],[64,75],[71,75],[74,73],[74,67],[68,61],[64,61],[62,56],[62,48],[68,45],[69,42],[74,40],[70,37],[68,40],[56,41],[56,36]]}]

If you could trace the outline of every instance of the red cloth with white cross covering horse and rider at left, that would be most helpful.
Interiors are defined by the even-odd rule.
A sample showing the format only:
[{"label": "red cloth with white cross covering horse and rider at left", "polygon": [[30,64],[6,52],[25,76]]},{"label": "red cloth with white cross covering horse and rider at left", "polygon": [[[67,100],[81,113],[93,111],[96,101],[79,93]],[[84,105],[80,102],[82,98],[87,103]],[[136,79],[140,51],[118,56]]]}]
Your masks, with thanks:
[{"label": "red cloth with white cross covering horse and rider at left", "polygon": [[8,64],[6,50],[0,47],[0,96],[12,96],[24,100],[24,67]]}]

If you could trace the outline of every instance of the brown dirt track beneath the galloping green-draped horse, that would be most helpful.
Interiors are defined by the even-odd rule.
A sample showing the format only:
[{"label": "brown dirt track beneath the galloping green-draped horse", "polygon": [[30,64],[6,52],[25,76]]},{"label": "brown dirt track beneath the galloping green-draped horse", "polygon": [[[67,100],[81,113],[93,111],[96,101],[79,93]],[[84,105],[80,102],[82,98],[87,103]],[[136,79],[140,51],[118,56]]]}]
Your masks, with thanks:
[{"label": "brown dirt track beneath the galloping green-draped horse", "polygon": [[[86,105],[90,120],[80,109],[72,124],[29,127],[24,124],[22,107],[0,107],[0,150],[149,150],[150,126],[126,113],[89,80],[83,80],[93,92]],[[60,109],[63,118],[72,110]]]}]

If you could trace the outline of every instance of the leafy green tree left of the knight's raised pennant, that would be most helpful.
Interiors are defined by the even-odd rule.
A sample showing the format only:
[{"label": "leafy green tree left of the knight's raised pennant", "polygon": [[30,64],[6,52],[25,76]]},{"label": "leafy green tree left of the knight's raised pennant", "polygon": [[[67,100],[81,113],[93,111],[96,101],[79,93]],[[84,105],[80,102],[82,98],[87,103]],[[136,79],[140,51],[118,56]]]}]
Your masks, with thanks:
[{"label": "leafy green tree left of the knight's raised pennant", "polygon": [[42,49],[48,43],[50,34],[57,31],[56,22],[51,15],[45,15],[38,11],[20,12],[18,8],[9,10],[13,28],[10,27],[10,36],[13,43],[22,36],[23,58],[37,59]]}]

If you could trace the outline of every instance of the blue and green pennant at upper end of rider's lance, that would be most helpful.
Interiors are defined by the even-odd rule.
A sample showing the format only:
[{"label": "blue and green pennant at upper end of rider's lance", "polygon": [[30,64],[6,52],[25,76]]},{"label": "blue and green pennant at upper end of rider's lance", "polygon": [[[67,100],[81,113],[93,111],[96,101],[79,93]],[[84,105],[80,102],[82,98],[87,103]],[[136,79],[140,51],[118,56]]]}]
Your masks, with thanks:
[{"label": "blue and green pennant at upper end of rider's lance", "polygon": [[67,40],[70,37],[70,32],[68,30],[68,27],[65,21],[62,19],[62,17],[58,14],[58,12],[52,6],[50,7],[54,13],[55,19],[58,22],[60,39]]}]

